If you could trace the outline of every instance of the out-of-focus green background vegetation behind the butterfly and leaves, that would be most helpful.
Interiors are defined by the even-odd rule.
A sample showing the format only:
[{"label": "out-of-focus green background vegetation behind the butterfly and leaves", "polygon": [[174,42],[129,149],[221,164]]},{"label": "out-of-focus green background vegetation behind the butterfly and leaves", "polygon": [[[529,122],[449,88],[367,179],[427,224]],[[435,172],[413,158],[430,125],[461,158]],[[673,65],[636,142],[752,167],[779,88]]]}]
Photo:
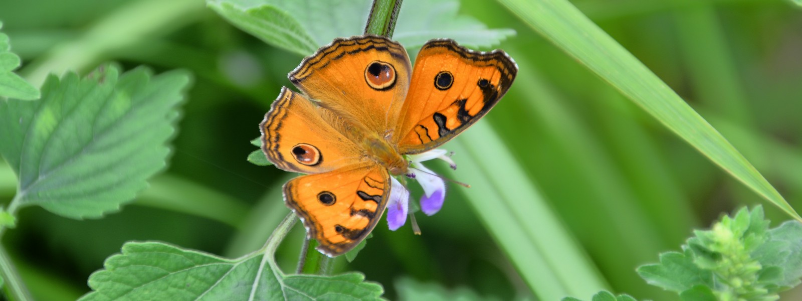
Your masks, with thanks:
[{"label": "out-of-focus green background vegetation behind the butterfly and leaves", "polygon": [[[781,0],[573,3],[802,208],[799,6]],[[520,73],[483,122],[504,140],[526,181],[540,190],[612,291],[674,299],[638,278],[635,267],[677,250],[694,227],[740,205],[764,204],[773,225],[789,219],[497,2],[464,0],[460,14],[516,30],[497,48],[516,59]],[[38,207],[20,212],[3,243],[37,299],[83,295],[88,276],[123,242],[159,240],[235,257],[261,246],[289,212],[280,187],[291,175],[245,157],[279,88],[291,87],[286,74],[299,55],[239,31],[201,1],[3,1],[0,20],[25,63],[19,73],[34,81],[62,66],[87,72],[104,61],[195,75],[169,169],[131,205],[89,221]],[[103,32],[109,28],[113,35]],[[460,153],[454,159],[459,163]],[[460,180],[459,173],[455,177]],[[0,164],[0,200],[10,201],[14,189],[13,173]],[[408,227],[391,232],[382,222],[358,258],[337,260],[336,269],[362,271],[383,284],[389,299],[397,298],[394,283],[405,278],[469,287],[483,298],[534,299],[464,201],[471,190],[449,189],[439,214],[419,214],[423,235]],[[297,228],[278,254],[286,271],[298,259],[303,233]],[[802,291],[784,299],[802,299]]]}]

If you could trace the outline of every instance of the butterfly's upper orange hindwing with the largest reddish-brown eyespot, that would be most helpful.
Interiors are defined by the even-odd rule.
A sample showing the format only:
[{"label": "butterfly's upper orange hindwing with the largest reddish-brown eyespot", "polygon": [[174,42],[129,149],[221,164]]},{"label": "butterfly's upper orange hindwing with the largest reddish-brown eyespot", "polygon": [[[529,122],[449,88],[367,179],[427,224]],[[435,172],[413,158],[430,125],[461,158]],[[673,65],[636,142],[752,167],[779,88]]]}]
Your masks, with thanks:
[{"label": "butterfly's upper orange hindwing with the largest reddish-brown eyespot", "polygon": [[338,116],[375,132],[395,128],[410,79],[407,51],[376,35],[334,39],[290,72],[290,81]]}]

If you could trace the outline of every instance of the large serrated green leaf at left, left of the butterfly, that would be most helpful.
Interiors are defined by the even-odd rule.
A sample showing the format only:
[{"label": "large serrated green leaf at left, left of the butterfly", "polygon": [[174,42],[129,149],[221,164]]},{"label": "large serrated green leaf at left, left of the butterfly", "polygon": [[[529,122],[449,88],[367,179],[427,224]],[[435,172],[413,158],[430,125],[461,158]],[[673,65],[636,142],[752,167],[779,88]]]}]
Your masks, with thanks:
[{"label": "large serrated green leaf at left, left of the butterfly", "polygon": [[51,76],[36,101],[0,101],[0,153],[18,175],[12,206],[99,217],[163,169],[189,77],[115,67]]}]

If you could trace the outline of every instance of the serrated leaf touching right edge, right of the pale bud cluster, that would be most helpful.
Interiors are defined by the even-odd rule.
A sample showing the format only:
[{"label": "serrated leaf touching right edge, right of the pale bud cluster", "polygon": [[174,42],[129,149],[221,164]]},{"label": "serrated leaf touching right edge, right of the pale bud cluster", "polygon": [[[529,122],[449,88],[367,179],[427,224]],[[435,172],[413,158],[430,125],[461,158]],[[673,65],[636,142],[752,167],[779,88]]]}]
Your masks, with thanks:
[{"label": "serrated leaf touching right edge, right of the pale bud cluster", "polygon": [[802,277],[802,224],[796,221],[784,222],[769,230],[768,236],[768,240],[752,252],[752,257],[763,266],[782,268],[782,280],[777,281],[777,285],[798,285]]}]

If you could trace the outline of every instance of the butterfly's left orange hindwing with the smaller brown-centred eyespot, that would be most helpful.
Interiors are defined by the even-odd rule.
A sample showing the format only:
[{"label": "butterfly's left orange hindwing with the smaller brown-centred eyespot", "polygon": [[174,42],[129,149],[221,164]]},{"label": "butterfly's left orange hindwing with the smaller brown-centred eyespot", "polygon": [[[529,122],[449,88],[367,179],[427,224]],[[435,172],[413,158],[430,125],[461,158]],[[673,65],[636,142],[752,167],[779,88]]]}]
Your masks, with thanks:
[{"label": "butterfly's left orange hindwing with the smaller brown-centred eyespot", "polygon": [[363,161],[363,152],[326,120],[330,113],[282,87],[259,124],[261,149],[279,169],[323,173]]}]

